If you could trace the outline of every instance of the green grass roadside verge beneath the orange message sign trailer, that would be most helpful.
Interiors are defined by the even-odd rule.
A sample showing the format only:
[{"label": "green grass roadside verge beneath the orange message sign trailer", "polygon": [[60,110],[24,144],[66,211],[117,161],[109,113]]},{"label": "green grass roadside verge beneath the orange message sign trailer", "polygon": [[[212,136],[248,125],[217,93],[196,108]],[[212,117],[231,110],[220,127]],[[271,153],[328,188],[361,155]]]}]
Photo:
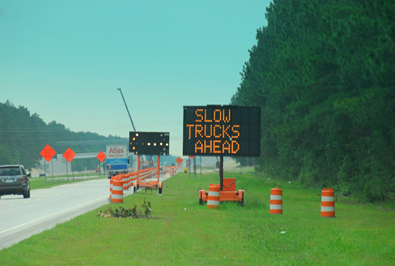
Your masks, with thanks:
[{"label": "green grass roadside verge beneath the orange message sign trailer", "polygon": [[[253,173],[224,175],[247,189],[244,208],[198,205],[198,188],[218,184],[218,174],[200,181],[180,173],[164,182],[163,196],[124,198],[125,208],[145,198],[161,219],[99,218],[99,210],[121,206],[105,205],[0,251],[1,265],[395,264],[393,210],[337,202],[336,218],[321,218],[321,191]],[[283,189],[282,215],[269,214],[275,186]]]}]

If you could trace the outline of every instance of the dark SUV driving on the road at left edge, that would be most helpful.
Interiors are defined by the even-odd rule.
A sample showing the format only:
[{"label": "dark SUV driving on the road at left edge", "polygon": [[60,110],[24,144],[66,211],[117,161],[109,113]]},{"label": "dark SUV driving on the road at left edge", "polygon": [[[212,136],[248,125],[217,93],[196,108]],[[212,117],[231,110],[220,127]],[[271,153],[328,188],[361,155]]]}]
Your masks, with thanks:
[{"label": "dark SUV driving on the road at left edge", "polygon": [[30,173],[21,164],[0,166],[0,196],[23,195],[30,198]]}]

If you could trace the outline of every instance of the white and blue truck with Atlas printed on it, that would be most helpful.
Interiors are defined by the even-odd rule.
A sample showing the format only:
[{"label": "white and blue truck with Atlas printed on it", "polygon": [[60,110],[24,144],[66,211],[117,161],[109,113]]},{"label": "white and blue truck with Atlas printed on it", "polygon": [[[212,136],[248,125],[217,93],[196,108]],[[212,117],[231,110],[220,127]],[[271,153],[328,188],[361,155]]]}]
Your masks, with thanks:
[{"label": "white and blue truck with Atlas printed on it", "polygon": [[106,164],[108,179],[114,175],[126,174],[128,172],[128,154],[126,145],[107,145],[106,147]]}]

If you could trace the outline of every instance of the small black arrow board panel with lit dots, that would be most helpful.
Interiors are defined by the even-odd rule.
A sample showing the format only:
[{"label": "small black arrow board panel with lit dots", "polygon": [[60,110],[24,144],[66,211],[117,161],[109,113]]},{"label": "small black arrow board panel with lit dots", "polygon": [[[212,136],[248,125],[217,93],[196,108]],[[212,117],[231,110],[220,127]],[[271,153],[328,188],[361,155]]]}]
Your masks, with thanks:
[{"label": "small black arrow board panel with lit dots", "polygon": [[129,132],[129,152],[136,155],[169,155],[169,132]]}]

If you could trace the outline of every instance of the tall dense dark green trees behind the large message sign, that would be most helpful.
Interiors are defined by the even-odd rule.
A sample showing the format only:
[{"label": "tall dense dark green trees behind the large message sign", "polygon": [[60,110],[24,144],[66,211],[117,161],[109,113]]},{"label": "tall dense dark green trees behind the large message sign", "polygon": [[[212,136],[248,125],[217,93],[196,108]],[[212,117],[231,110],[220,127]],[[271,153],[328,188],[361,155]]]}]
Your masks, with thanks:
[{"label": "tall dense dark green trees behind the large message sign", "polygon": [[264,171],[394,199],[395,2],[274,0],[232,103],[262,107]]}]

